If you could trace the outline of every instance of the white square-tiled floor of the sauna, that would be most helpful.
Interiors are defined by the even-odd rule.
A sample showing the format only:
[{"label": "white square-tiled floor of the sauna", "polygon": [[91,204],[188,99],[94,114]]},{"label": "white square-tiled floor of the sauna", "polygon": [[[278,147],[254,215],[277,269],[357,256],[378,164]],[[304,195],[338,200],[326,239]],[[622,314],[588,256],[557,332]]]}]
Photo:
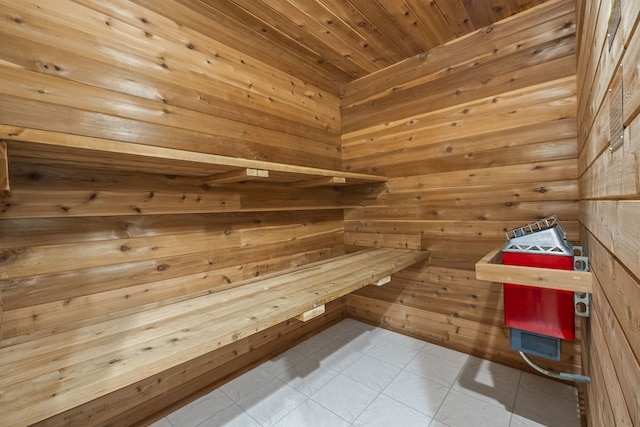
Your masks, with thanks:
[{"label": "white square-tiled floor of the sauna", "polygon": [[574,387],[347,319],[154,427],[579,427],[577,400]]}]

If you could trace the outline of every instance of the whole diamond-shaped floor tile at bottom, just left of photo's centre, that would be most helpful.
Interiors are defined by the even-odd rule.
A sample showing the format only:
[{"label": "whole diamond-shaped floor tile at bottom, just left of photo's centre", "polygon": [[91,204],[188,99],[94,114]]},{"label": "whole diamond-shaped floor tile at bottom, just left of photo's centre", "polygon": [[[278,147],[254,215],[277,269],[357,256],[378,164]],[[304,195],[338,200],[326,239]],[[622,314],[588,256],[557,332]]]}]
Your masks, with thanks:
[{"label": "whole diamond-shaped floor tile at bottom, just left of photo's centre", "polygon": [[274,378],[238,401],[263,426],[272,426],[295,409],[306,396],[282,380]]}]

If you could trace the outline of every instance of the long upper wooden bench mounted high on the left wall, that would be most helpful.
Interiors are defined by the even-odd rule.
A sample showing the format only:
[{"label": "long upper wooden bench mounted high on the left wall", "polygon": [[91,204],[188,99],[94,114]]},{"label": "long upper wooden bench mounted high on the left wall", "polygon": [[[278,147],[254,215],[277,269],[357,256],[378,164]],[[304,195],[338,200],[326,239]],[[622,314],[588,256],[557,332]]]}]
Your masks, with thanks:
[{"label": "long upper wooden bench mounted high on the left wall", "polygon": [[[383,183],[386,177],[242,159],[0,125],[10,161],[202,177],[203,183],[268,181],[298,187]],[[7,184],[8,186],[8,184]]]}]

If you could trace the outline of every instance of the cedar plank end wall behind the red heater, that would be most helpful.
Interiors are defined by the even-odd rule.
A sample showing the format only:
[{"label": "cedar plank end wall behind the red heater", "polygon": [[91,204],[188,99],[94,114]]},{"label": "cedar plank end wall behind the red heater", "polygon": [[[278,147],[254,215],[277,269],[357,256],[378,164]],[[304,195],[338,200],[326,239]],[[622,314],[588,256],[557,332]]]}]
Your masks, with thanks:
[{"label": "cedar plank end wall behind the red heater", "polygon": [[[578,239],[575,31],[574,2],[554,0],[344,87],[343,166],[391,177],[347,210],[345,244],[432,253],[426,272],[350,296],[350,315],[524,365],[501,285],[473,270],[505,230],[544,216]],[[579,350],[541,363],[579,372]]]}]

